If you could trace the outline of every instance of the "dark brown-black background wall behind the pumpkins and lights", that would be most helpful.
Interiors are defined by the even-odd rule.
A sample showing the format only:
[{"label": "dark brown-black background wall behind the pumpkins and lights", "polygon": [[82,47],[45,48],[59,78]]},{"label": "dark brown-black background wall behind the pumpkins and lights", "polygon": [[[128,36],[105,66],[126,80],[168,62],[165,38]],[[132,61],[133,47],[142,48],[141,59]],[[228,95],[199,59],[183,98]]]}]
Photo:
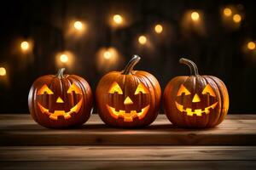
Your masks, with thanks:
[{"label": "dark brown-black background wall behind the pumpkins and lights", "polygon": [[[232,5],[241,14],[237,26],[223,20],[222,9]],[[96,84],[108,71],[122,70],[132,54],[142,57],[137,70],[151,72],[162,91],[173,77],[189,75],[178,64],[180,57],[193,59],[201,74],[219,77],[230,94],[229,113],[255,113],[256,53],[246,50],[256,40],[255,1],[4,1],[0,5],[0,66],[7,77],[0,77],[0,112],[27,113],[27,95],[40,76],[55,74],[59,66],[55,54],[69,50],[74,54],[68,74],[77,74]],[[184,14],[201,11],[202,30],[185,28]],[[127,26],[113,29],[111,14],[124,14]],[[88,29],[80,37],[67,37],[71,20],[84,20]],[[154,25],[164,32],[156,35]],[[146,34],[142,47],[137,37]],[[20,53],[21,40],[33,41],[30,54]],[[119,61],[99,68],[97,51],[103,47],[119,51]]]}]

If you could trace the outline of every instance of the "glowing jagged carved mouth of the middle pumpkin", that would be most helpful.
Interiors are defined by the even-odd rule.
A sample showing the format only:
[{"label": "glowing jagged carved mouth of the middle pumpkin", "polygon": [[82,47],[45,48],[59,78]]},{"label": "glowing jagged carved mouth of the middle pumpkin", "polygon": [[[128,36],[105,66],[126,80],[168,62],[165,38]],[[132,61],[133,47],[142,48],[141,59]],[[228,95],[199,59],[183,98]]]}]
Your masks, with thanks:
[{"label": "glowing jagged carved mouth of the middle pumpkin", "polygon": [[130,111],[126,113],[123,110],[115,111],[115,108],[107,105],[108,111],[115,119],[118,119],[119,117],[122,117],[124,119],[124,122],[132,122],[134,118],[138,117],[138,119],[143,119],[144,116],[146,116],[149,105],[143,107],[143,109],[139,112],[137,111]]}]

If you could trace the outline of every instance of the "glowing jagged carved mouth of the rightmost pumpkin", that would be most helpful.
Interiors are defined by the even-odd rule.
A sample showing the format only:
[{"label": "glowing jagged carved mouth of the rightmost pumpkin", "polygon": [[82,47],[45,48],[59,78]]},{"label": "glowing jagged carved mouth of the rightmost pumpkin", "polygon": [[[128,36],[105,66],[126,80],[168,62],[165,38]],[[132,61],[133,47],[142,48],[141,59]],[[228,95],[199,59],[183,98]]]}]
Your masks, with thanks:
[{"label": "glowing jagged carved mouth of the rightmost pumpkin", "polygon": [[185,112],[187,114],[187,116],[202,116],[203,113],[205,114],[209,114],[210,113],[210,109],[214,109],[216,107],[216,105],[218,104],[218,101],[215,102],[214,104],[206,107],[204,110],[201,109],[195,109],[194,111],[192,111],[192,108],[187,107],[186,109],[184,109],[183,105],[178,104],[177,102],[175,102],[177,110],[180,112]]}]

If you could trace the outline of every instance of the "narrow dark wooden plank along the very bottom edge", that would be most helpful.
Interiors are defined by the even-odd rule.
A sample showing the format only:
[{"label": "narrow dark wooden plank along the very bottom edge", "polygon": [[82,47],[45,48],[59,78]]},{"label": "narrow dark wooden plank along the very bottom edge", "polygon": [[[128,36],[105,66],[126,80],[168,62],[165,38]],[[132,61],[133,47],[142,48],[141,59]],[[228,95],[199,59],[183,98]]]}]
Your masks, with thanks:
[{"label": "narrow dark wooden plank along the very bottom edge", "polygon": [[256,161],[0,161],[0,167],[1,170],[255,170]]}]

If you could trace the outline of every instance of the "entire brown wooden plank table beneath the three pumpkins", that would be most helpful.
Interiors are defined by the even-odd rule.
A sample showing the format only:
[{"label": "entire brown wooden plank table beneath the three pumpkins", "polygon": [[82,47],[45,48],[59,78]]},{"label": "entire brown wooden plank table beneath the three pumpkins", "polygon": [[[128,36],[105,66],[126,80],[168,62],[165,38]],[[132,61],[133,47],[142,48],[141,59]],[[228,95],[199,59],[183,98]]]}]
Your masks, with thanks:
[{"label": "entire brown wooden plank table beneath the three pumpkins", "polygon": [[256,169],[256,115],[218,127],[173,127],[160,115],[143,129],[40,127],[29,115],[0,115],[0,169]]}]

